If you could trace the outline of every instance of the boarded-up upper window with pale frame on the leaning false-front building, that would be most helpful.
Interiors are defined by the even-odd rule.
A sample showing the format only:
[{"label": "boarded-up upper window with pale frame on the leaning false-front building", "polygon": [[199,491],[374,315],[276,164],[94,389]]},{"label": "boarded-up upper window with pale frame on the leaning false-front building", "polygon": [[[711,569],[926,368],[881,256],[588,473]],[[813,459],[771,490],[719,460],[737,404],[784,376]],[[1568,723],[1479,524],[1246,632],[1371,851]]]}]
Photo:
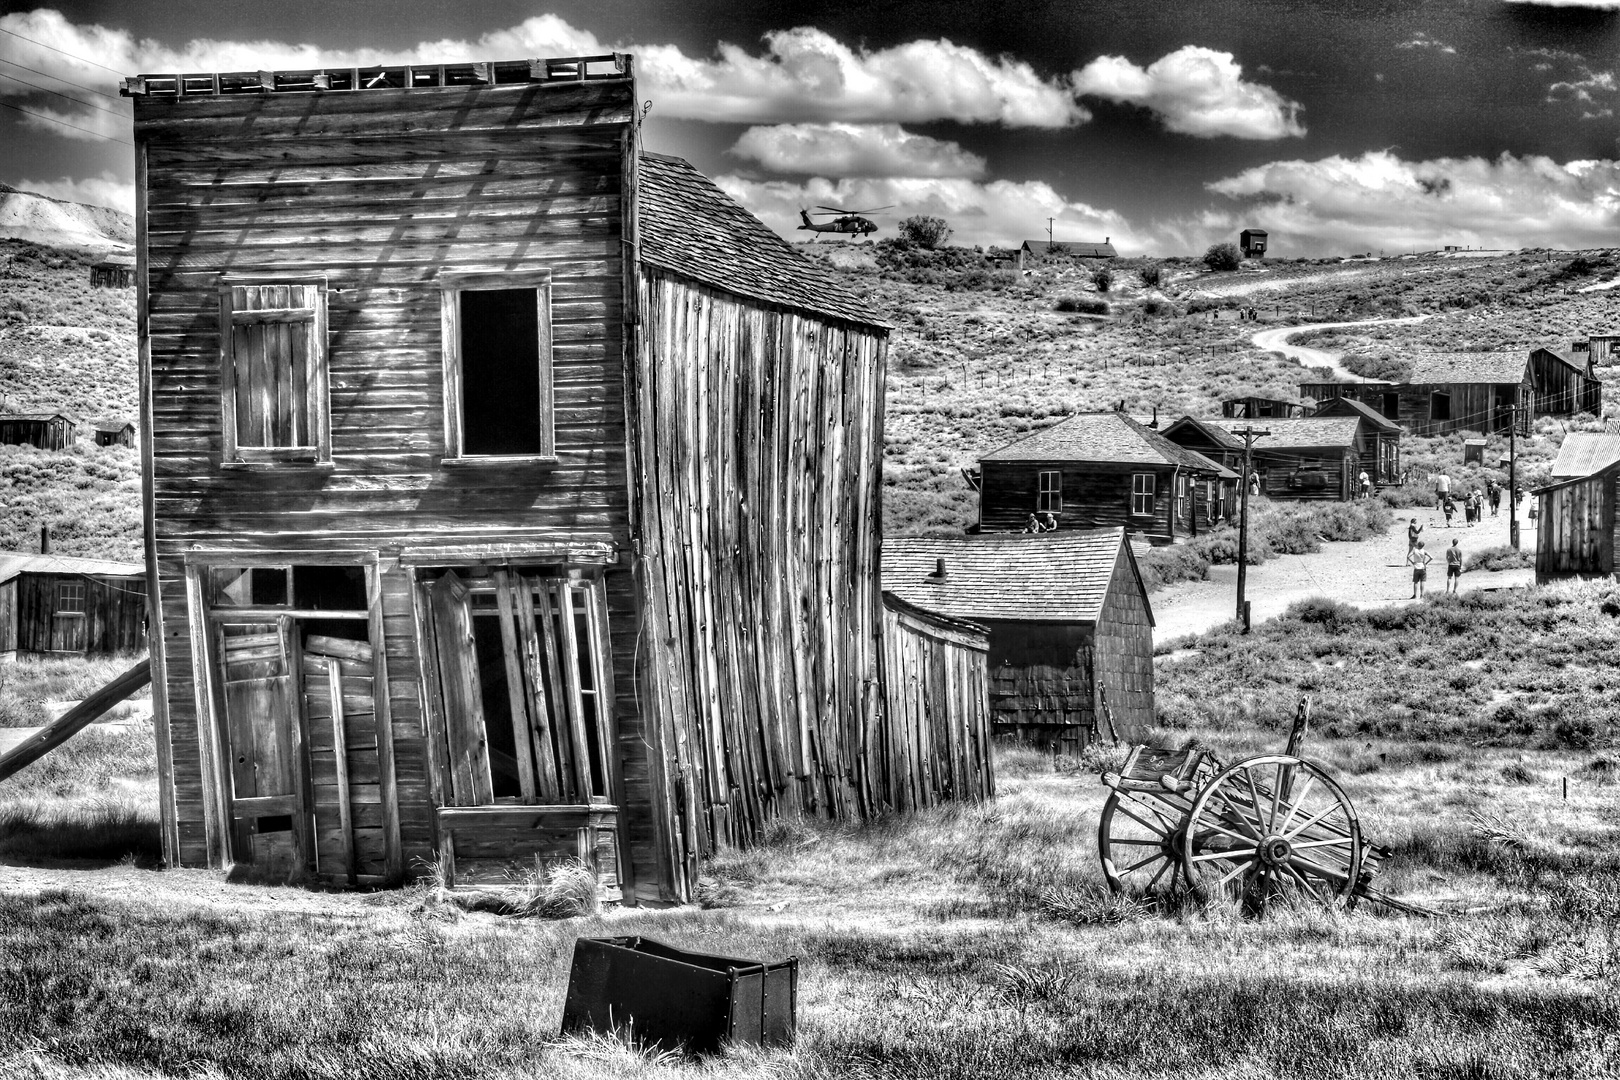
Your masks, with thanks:
[{"label": "boarded-up upper window with pale frame on the leaning false-front building", "polygon": [[219,291],[225,463],[332,460],[326,280]]}]

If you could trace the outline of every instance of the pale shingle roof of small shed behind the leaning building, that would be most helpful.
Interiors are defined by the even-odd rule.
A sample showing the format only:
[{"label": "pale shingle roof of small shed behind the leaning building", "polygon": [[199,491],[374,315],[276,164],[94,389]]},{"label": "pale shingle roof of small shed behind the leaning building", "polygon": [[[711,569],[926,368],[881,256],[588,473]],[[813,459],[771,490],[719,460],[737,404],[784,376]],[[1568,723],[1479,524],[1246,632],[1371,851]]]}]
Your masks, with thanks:
[{"label": "pale shingle roof of small shed behind the leaning building", "polygon": [[[943,578],[935,573],[941,559]],[[953,619],[1085,623],[1102,617],[1121,559],[1136,575],[1147,606],[1147,588],[1123,528],[886,538],[883,589]],[[1149,609],[1149,622],[1152,617]]]}]

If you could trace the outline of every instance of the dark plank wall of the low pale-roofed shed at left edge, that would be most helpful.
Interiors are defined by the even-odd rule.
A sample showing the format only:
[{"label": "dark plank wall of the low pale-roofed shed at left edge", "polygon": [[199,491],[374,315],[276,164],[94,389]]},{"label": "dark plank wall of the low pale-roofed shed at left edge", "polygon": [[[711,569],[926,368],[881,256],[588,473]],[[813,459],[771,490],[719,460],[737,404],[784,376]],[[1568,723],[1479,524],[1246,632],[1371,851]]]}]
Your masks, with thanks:
[{"label": "dark plank wall of the low pale-roofed shed at left edge", "polygon": [[[146,648],[144,578],[29,572],[11,585],[11,648],[19,653],[109,656]],[[5,636],[0,630],[0,643]]]}]

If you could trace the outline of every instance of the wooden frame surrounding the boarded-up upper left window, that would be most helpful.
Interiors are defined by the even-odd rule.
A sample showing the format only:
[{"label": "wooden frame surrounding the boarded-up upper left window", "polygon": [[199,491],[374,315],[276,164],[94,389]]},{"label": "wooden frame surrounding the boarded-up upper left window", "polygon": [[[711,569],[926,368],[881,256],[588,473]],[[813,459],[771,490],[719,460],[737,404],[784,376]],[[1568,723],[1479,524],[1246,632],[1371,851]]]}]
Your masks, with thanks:
[{"label": "wooden frame surrounding the boarded-up upper left window", "polygon": [[[254,309],[237,311],[232,290],[274,288],[306,285],[314,288],[314,304],[309,317],[253,319]],[[332,463],[332,393],[330,356],[327,340],[327,279],[324,274],[253,274],[222,275],[219,280],[219,377],[220,377],[220,434],[224,468],[285,468],[329,466]],[[280,314],[303,308],[259,309]],[[314,440],[296,447],[243,447],[237,432],[237,342],[238,324],[308,322],[309,348],[305,372],[305,393],[309,395],[309,434]]]}]

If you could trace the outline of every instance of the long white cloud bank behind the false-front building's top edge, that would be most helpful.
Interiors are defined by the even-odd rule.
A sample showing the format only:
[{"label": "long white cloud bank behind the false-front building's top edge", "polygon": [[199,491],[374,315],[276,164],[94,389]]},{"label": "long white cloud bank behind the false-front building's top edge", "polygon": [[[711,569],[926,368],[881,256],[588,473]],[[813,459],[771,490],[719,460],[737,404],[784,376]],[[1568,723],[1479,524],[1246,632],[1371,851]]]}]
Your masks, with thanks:
[{"label": "long white cloud bank behind the false-front building's top edge", "polygon": [[[424,40],[390,50],[219,39],[168,45],[138,40],[122,29],[70,23],[49,8],[0,16],[0,28],[21,34],[0,37],[0,58],[55,71],[60,78],[45,83],[49,89],[91,102],[99,99],[87,97],[71,83],[115,94],[117,71],[465,63],[620,50],[637,53],[640,89],[661,117],[723,123],[951,120],[1037,128],[1063,128],[1090,118],[1061,78],[1043,78],[1019,60],[987,57],[949,40],[857,50],[815,28],[766,34],[763,52],[723,44],[713,57],[688,57],[666,44],[603,42],[556,15],[535,16],[478,39]],[[63,52],[96,58],[96,63],[71,60]],[[57,118],[71,117],[71,123],[100,134],[126,136],[130,130],[126,117],[75,108],[8,79],[0,79],[0,97],[45,100],[58,112],[68,110]],[[37,102],[31,102],[29,108],[44,112]],[[37,125],[70,134],[47,121]]]}]

